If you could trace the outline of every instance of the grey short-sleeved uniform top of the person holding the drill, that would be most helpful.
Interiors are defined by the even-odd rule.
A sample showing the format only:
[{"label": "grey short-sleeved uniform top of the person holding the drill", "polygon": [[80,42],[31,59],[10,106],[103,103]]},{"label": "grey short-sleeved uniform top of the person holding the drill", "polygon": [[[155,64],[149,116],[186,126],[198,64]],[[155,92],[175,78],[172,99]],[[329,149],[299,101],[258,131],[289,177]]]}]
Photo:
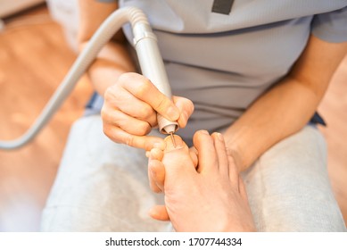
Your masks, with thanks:
[{"label": "grey short-sleeved uniform top of the person holding the drill", "polygon": [[[347,41],[347,0],[120,0],[119,4],[147,14],[173,95],[194,102],[186,129],[178,131],[186,138],[197,129],[213,131],[235,121],[285,77],[310,34],[332,43]],[[129,26],[124,31],[132,41]]]}]

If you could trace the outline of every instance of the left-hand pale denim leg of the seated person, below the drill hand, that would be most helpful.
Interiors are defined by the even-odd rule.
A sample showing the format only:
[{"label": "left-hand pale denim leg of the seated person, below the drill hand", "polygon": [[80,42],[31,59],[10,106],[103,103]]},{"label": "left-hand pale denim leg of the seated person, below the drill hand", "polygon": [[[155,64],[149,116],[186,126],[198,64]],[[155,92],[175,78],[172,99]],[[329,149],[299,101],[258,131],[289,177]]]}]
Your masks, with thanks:
[{"label": "left-hand pale denim leg of the seated person, below the drill hand", "polygon": [[100,116],[75,122],[43,212],[44,231],[157,231],[161,203],[148,185],[145,151],[113,143]]}]

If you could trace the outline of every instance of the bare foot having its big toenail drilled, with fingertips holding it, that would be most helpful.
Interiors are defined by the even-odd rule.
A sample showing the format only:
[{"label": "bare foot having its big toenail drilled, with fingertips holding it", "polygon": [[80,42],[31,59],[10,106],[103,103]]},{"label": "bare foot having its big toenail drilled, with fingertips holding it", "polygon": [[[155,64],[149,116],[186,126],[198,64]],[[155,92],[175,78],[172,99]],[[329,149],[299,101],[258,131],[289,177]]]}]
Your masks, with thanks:
[{"label": "bare foot having its big toenail drilled, with fingertips holding it", "polygon": [[149,172],[161,174],[165,194],[165,205],[153,207],[151,216],[170,220],[177,231],[255,230],[244,183],[223,137],[195,133],[199,171],[186,144],[178,136],[175,139],[176,148],[167,137],[164,152],[153,148],[150,154]]}]

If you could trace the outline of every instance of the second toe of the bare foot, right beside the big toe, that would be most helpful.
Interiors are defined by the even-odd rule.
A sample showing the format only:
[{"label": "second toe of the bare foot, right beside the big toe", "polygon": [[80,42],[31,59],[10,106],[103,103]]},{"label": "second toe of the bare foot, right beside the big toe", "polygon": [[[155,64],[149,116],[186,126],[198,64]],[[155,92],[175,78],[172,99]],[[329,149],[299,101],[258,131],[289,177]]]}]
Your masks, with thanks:
[{"label": "second toe of the bare foot, right beside the big toe", "polygon": [[198,172],[213,171],[218,169],[218,159],[213,139],[206,130],[199,130],[193,137],[194,146],[198,151]]}]

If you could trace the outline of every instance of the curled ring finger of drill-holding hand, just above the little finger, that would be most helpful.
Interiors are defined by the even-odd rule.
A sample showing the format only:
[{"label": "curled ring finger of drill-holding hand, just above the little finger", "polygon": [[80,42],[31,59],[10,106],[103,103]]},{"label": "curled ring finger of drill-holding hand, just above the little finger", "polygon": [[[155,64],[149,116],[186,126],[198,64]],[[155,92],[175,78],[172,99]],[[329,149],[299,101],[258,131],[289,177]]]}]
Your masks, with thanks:
[{"label": "curled ring finger of drill-holding hand, just above the little finger", "polygon": [[146,121],[137,120],[128,114],[119,110],[113,110],[112,112],[105,112],[102,110],[103,122],[110,127],[119,127],[129,134],[135,136],[145,136],[148,134],[152,127]]}]

